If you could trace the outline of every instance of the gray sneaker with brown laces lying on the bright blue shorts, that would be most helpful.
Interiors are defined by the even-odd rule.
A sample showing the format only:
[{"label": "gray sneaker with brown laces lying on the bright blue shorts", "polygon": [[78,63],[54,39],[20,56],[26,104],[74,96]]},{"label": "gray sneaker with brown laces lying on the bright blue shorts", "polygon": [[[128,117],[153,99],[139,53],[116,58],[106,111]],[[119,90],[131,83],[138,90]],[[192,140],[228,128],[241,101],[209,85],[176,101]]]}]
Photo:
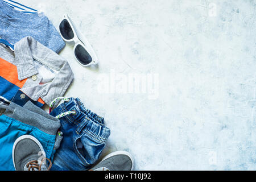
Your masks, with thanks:
[{"label": "gray sneaker with brown laces lying on the bright blue shorts", "polygon": [[[49,161],[50,166],[46,164]],[[16,171],[47,171],[51,160],[46,158],[42,144],[31,135],[22,135],[13,145],[13,164]]]}]

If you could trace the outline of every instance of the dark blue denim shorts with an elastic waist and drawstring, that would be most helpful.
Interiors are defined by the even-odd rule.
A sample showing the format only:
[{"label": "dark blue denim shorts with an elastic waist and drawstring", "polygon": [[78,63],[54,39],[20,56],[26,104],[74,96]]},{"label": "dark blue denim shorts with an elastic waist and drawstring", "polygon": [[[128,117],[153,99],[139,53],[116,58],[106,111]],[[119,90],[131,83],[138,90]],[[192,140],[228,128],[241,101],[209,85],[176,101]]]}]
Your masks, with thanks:
[{"label": "dark blue denim shorts with an elastic waist and drawstring", "polygon": [[104,126],[104,118],[86,109],[79,98],[69,98],[51,115],[67,111],[75,111],[75,114],[60,118],[63,139],[53,158],[51,170],[87,170],[100,158],[110,129]]}]

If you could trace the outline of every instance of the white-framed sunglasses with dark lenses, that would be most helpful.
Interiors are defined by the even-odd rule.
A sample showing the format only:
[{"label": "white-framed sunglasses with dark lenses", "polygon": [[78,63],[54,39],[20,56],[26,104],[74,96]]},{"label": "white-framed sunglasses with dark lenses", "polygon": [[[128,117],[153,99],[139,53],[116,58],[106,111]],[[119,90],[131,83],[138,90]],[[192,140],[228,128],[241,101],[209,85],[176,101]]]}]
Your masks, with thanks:
[{"label": "white-framed sunglasses with dark lenses", "polygon": [[88,40],[82,35],[68,14],[65,14],[63,20],[61,20],[59,32],[61,38],[66,42],[75,42],[73,53],[82,66],[87,67],[92,64],[98,64],[98,58],[92,46],[90,46]]}]

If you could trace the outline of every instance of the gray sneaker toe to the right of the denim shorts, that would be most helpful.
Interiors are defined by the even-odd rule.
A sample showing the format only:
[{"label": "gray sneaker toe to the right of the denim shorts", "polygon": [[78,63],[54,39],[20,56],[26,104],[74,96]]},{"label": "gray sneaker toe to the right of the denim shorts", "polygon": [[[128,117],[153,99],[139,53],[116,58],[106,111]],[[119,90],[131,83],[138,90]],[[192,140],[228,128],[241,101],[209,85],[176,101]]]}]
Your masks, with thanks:
[{"label": "gray sneaker toe to the right of the denim shorts", "polygon": [[126,151],[116,151],[101,160],[90,171],[132,171],[134,167],[133,156]]}]

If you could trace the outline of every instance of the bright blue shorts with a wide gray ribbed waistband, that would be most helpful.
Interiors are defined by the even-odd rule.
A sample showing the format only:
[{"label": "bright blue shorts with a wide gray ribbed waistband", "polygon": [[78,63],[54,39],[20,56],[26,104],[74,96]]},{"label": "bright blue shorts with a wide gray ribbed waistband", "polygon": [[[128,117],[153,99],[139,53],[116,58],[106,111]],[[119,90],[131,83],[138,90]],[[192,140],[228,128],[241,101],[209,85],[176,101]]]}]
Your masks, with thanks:
[{"label": "bright blue shorts with a wide gray ribbed waistband", "polygon": [[[22,135],[32,135],[42,144],[46,157],[53,160],[59,144],[56,133],[60,122],[28,101],[23,107],[11,102],[0,116],[0,171],[14,171],[13,144]],[[38,156],[40,158],[42,156]]]}]

